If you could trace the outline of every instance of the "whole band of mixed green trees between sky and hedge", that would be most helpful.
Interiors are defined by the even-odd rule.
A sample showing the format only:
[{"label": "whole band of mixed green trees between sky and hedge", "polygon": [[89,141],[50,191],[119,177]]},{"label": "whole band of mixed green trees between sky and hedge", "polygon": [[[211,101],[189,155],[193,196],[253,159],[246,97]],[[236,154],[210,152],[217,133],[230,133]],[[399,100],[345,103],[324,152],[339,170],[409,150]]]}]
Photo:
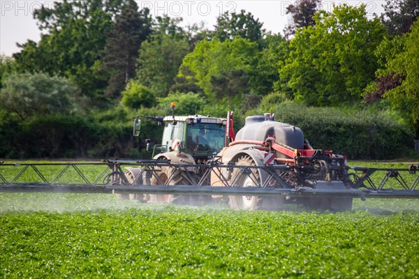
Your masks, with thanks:
[{"label": "whole band of mixed green trees between sky and hedge", "polygon": [[139,111],[164,114],[170,101],[179,114],[241,118],[290,103],[379,114],[418,137],[418,1],[388,0],[380,17],[365,6],[320,6],[288,6],[284,36],[245,10],[208,29],[153,17],[133,0],[43,6],[34,12],[41,40],[1,59],[0,109],[22,121],[93,113],[122,123]]}]

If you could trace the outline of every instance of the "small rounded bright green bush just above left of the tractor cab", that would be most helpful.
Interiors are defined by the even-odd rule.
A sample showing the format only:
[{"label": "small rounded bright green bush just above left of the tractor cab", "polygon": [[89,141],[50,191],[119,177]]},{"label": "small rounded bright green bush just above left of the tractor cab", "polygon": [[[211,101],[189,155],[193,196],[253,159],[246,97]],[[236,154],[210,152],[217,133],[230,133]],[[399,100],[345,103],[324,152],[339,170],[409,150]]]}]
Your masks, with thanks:
[{"label": "small rounded bright green bush just above left of the tractor cab", "polygon": [[153,107],[157,103],[156,94],[146,86],[131,80],[126,90],[122,92],[121,103],[124,107],[134,110],[140,107]]}]

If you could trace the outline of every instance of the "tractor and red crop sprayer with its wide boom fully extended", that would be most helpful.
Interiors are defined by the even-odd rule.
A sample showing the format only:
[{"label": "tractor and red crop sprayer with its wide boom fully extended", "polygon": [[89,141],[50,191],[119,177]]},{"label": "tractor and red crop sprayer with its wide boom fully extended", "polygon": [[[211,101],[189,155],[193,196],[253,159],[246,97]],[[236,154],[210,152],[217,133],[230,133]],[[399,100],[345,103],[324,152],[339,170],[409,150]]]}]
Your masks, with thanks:
[{"label": "tractor and red crop sprayer with its wide boom fully extended", "polygon": [[176,116],[172,103],[170,116],[138,116],[134,136],[145,119],[164,126],[161,144],[146,140],[152,159],[1,163],[0,192],[113,193],[193,205],[223,199],[249,210],[296,203],[346,211],[353,198],[419,198],[418,165],[349,167],[344,156],[312,148],[300,128],[275,121],[274,114],[248,116],[235,135],[233,112],[226,119]]}]

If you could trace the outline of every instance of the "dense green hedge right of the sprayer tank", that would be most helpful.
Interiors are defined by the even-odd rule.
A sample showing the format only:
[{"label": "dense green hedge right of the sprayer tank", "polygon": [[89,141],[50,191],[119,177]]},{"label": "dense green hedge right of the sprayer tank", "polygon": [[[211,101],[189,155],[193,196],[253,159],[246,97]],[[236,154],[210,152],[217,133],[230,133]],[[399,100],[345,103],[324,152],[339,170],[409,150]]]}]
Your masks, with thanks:
[{"label": "dense green hedge right of the sprayer tank", "polygon": [[282,104],[277,121],[298,126],[316,149],[332,150],[351,159],[392,159],[412,156],[409,130],[380,113]]}]

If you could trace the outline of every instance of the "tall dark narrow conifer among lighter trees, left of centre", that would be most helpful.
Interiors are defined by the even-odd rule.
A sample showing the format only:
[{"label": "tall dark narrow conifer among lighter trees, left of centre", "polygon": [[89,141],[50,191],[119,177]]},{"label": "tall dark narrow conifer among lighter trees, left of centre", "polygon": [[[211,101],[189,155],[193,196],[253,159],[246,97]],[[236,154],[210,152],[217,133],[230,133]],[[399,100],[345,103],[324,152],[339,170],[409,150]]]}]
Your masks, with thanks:
[{"label": "tall dark narrow conifer among lighter trees, left of centre", "polygon": [[151,32],[149,10],[138,12],[137,3],[127,0],[115,17],[106,40],[104,68],[110,73],[105,96],[118,99],[128,81],[135,76],[138,48]]}]

